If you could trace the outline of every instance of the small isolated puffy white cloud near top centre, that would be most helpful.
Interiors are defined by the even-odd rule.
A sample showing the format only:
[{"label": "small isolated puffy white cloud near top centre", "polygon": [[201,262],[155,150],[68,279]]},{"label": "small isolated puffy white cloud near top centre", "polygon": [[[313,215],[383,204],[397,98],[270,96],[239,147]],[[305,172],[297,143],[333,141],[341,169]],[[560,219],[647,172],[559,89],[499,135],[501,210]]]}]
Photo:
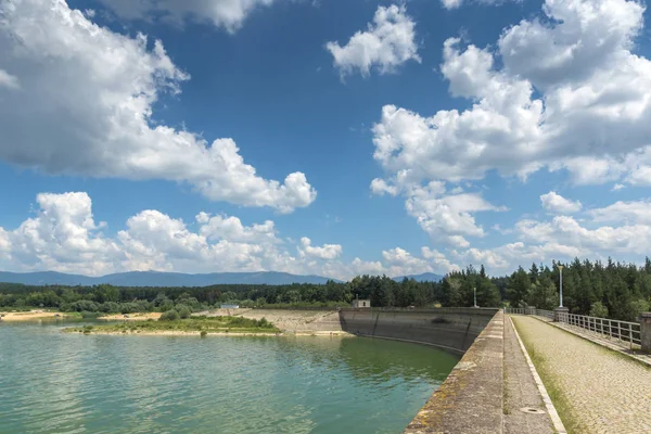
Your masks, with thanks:
[{"label": "small isolated puffy white cloud near top centre", "polygon": [[414,28],[416,23],[404,5],[378,7],[373,23],[368,24],[366,31],[357,31],[344,47],[331,41],[326,49],[334,58],[334,66],[342,77],[355,71],[365,77],[371,69],[393,73],[410,60],[421,62]]}]

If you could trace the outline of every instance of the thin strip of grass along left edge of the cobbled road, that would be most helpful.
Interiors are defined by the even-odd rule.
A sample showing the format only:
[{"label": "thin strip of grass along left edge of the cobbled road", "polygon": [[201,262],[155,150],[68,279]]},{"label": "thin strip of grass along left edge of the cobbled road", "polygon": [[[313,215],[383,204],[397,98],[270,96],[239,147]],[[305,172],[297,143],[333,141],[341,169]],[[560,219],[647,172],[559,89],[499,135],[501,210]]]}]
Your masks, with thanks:
[{"label": "thin strip of grass along left edge of the cobbled road", "polygon": [[576,418],[574,417],[574,410],[572,408],[570,399],[561,390],[560,384],[558,383],[553,373],[550,372],[550,369],[545,361],[545,357],[536,350],[536,347],[533,344],[527,342],[524,333],[522,332],[522,328],[520,328],[518,326],[518,321],[515,320],[515,318],[513,318],[513,326],[515,326],[515,329],[518,330],[518,333],[520,334],[520,337],[522,339],[524,347],[526,348],[526,352],[528,353],[528,356],[531,357],[532,362],[536,367],[536,371],[538,371],[538,375],[540,375],[540,380],[542,380],[542,384],[545,385],[545,388],[547,390],[547,394],[549,395],[549,398],[553,403],[553,406],[556,407],[556,409],[558,411],[559,417],[563,421],[563,425],[565,425],[565,430],[567,430],[567,434],[579,433],[580,430],[577,430],[578,422],[577,422]]}]

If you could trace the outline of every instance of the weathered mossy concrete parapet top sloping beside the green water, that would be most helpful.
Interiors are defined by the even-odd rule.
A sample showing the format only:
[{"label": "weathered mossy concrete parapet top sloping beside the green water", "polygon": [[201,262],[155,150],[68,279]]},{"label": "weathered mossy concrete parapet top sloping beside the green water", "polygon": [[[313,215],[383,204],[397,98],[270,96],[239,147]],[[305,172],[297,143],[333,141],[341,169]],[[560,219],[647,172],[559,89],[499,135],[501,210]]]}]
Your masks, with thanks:
[{"label": "weathered mossy concrete parapet top sloping beside the green water", "polygon": [[503,431],[503,314],[495,314],[403,434]]}]

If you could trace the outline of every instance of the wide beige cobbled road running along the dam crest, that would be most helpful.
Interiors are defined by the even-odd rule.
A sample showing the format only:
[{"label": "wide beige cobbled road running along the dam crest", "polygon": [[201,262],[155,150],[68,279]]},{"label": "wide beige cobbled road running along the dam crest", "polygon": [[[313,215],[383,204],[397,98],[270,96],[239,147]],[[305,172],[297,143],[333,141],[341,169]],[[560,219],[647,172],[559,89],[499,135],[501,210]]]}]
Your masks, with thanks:
[{"label": "wide beige cobbled road running along the dam crest", "polygon": [[651,369],[536,318],[512,318],[552,398],[558,391],[570,433],[651,433]]}]

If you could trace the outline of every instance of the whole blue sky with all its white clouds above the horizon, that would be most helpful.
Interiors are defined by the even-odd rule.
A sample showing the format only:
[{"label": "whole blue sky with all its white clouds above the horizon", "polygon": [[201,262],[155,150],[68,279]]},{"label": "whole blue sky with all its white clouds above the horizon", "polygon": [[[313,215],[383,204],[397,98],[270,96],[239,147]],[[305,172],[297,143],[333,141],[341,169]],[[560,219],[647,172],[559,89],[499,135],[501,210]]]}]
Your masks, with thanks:
[{"label": "whole blue sky with all its white clouds above the horizon", "polygon": [[643,3],[0,11],[1,269],[345,279],[647,254]]}]

